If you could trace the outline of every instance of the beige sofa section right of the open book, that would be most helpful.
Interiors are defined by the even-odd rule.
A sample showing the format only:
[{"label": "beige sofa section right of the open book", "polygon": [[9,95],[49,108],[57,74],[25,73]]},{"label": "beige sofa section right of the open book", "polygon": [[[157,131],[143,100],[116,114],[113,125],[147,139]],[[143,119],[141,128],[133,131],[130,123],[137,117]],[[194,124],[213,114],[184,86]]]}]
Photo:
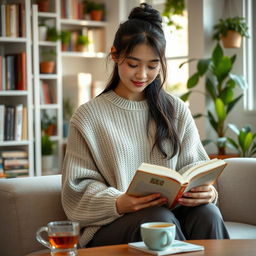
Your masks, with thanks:
[{"label": "beige sofa section right of the open book", "polygon": [[256,158],[229,158],[218,179],[219,208],[225,221],[256,225]]}]

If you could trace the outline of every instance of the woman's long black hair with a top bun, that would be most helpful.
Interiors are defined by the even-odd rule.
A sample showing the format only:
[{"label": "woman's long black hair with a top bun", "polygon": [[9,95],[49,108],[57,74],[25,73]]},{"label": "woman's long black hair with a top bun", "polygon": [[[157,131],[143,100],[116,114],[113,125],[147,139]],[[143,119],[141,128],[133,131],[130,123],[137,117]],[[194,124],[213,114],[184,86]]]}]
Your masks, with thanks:
[{"label": "woman's long black hair with a top bun", "polygon": [[[155,122],[156,134],[154,146],[157,146],[165,158],[173,157],[180,148],[180,141],[175,127],[175,109],[170,95],[164,89],[163,84],[166,80],[166,40],[162,30],[162,17],[160,13],[150,5],[143,3],[140,7],[134,8],[128,20],[120,24],[114,39],[115,55],[117,58],[122,54],[128,56],[133,49],[142,43],[146,43],[155,51],[160,58],[161,76],[145,88],[145,96],[149,106],[149,124]],[[103,93],[114,90],[120,81],[117,64],[114,67],[110,81]],[[164,149],[164,142],[171,141],[173,145],[172,154]]]}]

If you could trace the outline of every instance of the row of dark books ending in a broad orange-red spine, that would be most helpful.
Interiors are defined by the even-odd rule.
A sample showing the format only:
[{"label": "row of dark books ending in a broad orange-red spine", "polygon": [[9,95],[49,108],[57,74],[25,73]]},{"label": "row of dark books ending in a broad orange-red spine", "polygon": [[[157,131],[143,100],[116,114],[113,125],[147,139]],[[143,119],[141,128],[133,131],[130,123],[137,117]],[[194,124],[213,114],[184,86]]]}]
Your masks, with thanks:
[{"label": "row of dark books ending in a broad orange-red spine", "polygon": [[0,56],[0,91],[26,89],[26,53]]}]

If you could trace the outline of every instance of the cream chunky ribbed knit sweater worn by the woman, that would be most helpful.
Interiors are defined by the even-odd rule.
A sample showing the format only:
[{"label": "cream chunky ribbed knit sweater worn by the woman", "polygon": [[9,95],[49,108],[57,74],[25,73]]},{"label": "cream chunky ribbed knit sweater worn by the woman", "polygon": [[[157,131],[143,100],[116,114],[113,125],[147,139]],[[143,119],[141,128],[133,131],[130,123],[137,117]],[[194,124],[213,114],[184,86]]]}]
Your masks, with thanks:
[{"label": "cream chunky ribbed knit sweater worn by the woman", "polygon": [[[70,122],[62,175],[62,204],[67,217],[82,227],[80,245],[120,215],[116,198],[126,191],[142,162],[183,172],[208,156],[187,106],[172,96],[181,150],[170,160],[155,147],[154,127],[147,136],[146,101],[129,101],[109,91],[80,106]],[[167,150],[171,145],[165,144]]]}]

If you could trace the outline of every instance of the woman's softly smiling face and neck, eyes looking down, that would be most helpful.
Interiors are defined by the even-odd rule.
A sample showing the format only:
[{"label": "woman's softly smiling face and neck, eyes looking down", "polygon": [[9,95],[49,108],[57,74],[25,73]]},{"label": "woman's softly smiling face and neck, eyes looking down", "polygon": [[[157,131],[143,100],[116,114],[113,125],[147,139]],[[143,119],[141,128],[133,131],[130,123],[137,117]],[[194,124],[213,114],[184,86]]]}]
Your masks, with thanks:
[{"label": "woman's softly smiling face and neck, eyes looking down", "polygon": [[160,72],[160,59],[154,50],[146,45],[137,45],[130,55],[116,60],[120,77],[115,92],[126,99],[144,99],[144,89]]}]

